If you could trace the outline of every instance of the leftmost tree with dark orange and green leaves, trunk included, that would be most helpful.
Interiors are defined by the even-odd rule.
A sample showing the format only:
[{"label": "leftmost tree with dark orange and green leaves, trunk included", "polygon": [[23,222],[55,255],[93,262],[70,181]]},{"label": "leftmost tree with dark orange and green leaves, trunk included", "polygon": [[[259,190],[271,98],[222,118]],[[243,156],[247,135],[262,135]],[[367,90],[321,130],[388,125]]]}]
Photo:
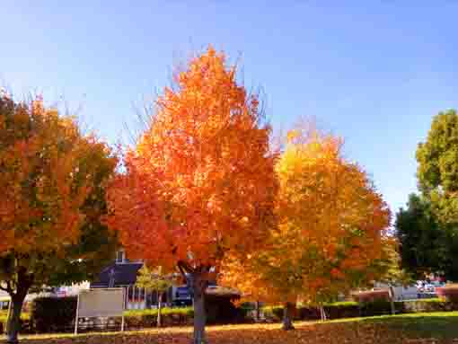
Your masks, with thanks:
[{"label": "leftmost tree with dark orange and green leaves, trunk included", "polygon": [[0,289],[11,296],[9,342],[17,342],[30,291],[82,281],[111,257],[115,238],[101,215],[116,164],[74,119],[40,99],[0,94]]}]

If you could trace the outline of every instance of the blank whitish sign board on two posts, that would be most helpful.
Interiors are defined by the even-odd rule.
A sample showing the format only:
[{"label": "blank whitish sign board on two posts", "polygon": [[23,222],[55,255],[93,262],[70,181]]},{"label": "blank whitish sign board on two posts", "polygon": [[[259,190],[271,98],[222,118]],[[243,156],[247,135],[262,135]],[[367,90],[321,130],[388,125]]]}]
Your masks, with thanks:
[{"label": "blank whitish sign board on two posts", "polygon": [[75,333],[78,331],[79,318],[99,318],[122,316],[124,330],[124,306],[126,296],[124,288],[81,290],[76,306]]}]

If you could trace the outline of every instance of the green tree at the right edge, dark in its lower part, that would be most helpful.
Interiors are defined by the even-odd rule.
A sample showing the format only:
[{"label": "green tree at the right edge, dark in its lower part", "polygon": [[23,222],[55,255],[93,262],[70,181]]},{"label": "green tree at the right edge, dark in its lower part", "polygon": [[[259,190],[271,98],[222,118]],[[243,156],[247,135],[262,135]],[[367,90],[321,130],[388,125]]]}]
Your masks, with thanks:
[{"label": "green tree at the right edge, dark in its lower part", "polygon": [[417,276],[458,279],[458,114],[439,112],[417,149],[418,190],[397,215],[402,265]]}]

